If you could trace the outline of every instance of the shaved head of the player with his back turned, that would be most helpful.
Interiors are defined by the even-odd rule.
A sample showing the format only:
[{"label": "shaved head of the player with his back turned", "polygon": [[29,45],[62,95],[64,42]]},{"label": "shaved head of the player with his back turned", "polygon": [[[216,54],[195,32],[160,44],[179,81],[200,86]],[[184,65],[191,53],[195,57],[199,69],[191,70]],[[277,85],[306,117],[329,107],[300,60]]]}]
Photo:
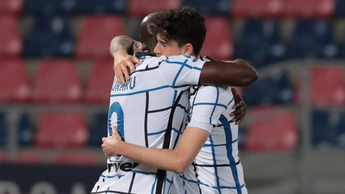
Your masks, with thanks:
[{"label": "shaved head of the player with his back turned", "polygon": [[157,45],[156,37],[156,18],[161,12],[154,12],[147,15],[140,23],[139,37],[142,43],[143,51],[153,51]]}]

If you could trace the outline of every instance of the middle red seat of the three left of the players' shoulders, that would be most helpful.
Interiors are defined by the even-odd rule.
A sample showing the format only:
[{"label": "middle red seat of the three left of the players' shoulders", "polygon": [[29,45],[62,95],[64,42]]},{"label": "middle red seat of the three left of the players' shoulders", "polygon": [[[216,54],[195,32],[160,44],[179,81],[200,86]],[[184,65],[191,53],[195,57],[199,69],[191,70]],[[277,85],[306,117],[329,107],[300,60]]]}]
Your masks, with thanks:
[{"label": "middle red seat of the three left of the players' shoulders", "polygon": [[41,60],[34,84],[36,102],[76,103],[81,96],[78,72],[71,60]]}]

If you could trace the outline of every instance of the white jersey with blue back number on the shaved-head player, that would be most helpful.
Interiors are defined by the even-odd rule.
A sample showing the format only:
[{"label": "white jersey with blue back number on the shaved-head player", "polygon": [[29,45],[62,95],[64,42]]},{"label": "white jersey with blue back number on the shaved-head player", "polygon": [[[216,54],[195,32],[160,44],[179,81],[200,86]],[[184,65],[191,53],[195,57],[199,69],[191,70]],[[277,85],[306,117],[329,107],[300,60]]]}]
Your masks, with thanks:
[{"label": "white jersey with blue back number on the shaved-head player", "polygon": [[[173,148],[185,127],[188,93],[199,82],[204,61],[188,55],[140,57],[125,86],[112,87],[108,136],[116,126],[122,140],[152,148]],[[108,159],[92,194],[170,193],[173,172],[139,164],[122,155]]]}]

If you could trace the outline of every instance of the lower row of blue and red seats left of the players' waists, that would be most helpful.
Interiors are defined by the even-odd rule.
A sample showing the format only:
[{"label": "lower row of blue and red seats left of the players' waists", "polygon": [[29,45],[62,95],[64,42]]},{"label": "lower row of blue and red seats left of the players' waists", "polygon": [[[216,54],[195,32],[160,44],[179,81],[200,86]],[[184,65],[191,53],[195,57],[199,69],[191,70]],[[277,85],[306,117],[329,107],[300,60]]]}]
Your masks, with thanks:
[{"label": "lower row of blue and red seats left of the players' waists", "polygon": [[[108,132],[108,114],[94,114],[88,127],[80,112],[41,113],[36,126],[30,115],[22,113],[17,124],[17,143],[21,146],[37,147],[84,147],[100,146]],[[0,146],[8,144],[9,123],[7,115],[0,112]]]}]

